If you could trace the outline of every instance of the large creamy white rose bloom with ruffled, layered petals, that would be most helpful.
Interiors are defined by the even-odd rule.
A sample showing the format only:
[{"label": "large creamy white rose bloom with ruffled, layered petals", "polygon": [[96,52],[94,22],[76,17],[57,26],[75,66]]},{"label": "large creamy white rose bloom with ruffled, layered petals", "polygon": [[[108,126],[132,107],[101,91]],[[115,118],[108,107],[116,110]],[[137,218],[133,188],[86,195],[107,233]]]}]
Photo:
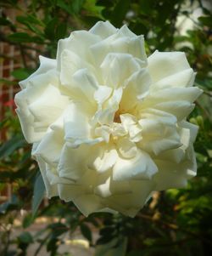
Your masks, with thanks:
[{"label": "large creamy white rose bloom with ruffled, layered petals", "polygon": [[15,96],[47,196],[86,216],[135,216],[153,191],[181,188],[196,175],[187,122],[202,91],[181,52],[148,58],[143,36],[109,21],[59,40],[56,60],[20,82]]}]

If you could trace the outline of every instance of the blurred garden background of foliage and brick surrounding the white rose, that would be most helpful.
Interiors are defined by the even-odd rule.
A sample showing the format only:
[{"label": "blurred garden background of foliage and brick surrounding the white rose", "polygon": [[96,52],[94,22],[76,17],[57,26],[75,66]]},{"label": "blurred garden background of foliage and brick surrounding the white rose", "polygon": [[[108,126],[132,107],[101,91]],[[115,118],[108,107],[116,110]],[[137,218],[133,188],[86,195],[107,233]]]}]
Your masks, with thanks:
[{"label": "blurred garden background of foliage and brick surrounding the white rose", "polygon": [[[212,255],[212,3],[195,0],[4,0],[0,3],[0,255]],[[204,89],[188,118],[199,127],[198,175],[186,189],[156,192],[134,219],[47,200],[15,115],[18,82],[59,38],[98,20],[143,34],[147,54],[185,51]]]}]

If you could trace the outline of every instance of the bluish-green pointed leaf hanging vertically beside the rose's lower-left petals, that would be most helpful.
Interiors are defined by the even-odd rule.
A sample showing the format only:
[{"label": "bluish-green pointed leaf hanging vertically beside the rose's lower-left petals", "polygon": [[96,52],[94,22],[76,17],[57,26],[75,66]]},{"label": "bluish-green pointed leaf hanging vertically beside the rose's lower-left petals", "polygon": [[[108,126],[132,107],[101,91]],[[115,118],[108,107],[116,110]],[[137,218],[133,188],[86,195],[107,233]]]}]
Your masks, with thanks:
[{"label": "bluish-green pointed leaf hanging vertically beside the rose's lower-left petals", "polygon": [[36,178],[34,185],[33,197],[32,197],[32,213],[36,214],[37,209],[39,208],[45,192],[45,185],[42,179],[42,174],[39,174]]}]

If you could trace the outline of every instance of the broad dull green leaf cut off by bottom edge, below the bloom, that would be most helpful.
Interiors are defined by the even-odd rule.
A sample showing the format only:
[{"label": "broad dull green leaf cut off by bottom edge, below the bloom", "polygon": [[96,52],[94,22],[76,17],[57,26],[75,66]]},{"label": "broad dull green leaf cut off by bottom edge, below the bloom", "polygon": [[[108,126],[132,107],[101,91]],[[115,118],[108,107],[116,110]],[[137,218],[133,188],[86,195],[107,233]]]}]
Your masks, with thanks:
[{"label": "broad dull green leaf cut off by bottom edge, below the bloom", "polygon": [[126,255],[126,237],[122,240],[114,238],[111,242],[98,245],[94,256],[125,256]]}]

